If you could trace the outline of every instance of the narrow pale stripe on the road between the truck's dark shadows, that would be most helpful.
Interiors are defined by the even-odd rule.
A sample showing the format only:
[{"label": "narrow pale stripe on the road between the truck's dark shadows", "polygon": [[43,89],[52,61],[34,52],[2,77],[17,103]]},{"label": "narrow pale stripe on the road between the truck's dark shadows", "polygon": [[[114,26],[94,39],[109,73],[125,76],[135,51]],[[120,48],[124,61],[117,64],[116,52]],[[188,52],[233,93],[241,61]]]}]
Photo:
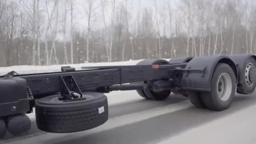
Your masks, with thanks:
[{"label": "narrow pale stripe on the road between the truck's dark shadows", "polygon": [[146,111],[142,112],[136,112],[128,115],[122,115],[119,117],[113,117],[109,118],[109,120],[104,124],[101,125],[97,128],[91,129],[89,131],[83,131],[83,132],[78,132],[78,133],[73,133],[73,134],[67,134],[67,133],[45,133],[39,136],[33,136],[33,137],[24,137],[24,138],[19,138],[15,139],[12,141],[9,141],[11,144],[14,143],[19,143],[19,144],[44,144],[45,141],[51,141],[52,143],[57,142],[59,140],[65,141],[69,139],[75,139],[81,136],[86,136],[88,134],[93,134],[93,133],[99,133],[101,131],[106,131],[112,128],[117,128],[123,125],[128,125],[136,122],[140,122],[143,120],[150,119],[152,117],[157,117],[159,115],[165,115],[168,113],[176,112],[182,109],[186,109],[191,107],[192,105],[190,104],[189,101],[182,101],[176,104],[170,104],[168,106],[164,107],[158,107],[154,109],[149,109]]}]

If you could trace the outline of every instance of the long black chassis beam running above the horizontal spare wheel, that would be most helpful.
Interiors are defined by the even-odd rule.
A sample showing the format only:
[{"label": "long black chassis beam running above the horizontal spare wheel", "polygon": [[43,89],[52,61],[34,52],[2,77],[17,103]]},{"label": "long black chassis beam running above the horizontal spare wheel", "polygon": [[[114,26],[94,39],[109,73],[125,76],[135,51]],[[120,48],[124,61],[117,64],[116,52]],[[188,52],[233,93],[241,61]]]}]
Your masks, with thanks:
[{"label": "long black chassis beam running above the horizontal spare wheel", "polygon": [[60,92],[59,77],[64,75],[72,75],[79,88],[83,91],[90,88],[109,87],[123,83],[169,79],[174,69],[181,69],[185,66],[186,64],[167,64],[159,66],[158,69],[153,69],[152,65],[91,67],[93,69],[15,75],[13,77],[25,79],[34,99],[39,99]]}]

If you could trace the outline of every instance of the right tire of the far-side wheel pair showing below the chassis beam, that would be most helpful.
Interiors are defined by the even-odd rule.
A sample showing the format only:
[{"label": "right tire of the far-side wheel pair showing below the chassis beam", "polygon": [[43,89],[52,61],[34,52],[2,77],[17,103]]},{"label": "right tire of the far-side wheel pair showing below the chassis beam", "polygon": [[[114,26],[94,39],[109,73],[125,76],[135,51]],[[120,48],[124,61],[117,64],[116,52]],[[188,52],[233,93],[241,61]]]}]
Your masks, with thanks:
[{"label": "right tire of the far-side wheel pair showing below the chassis beam", "polygon": [[149,99],[156,100],[156,101],[163,101],[167,99],[171,94],[171,90],[154,92],[150,89],[144,89],[144,92]]}]

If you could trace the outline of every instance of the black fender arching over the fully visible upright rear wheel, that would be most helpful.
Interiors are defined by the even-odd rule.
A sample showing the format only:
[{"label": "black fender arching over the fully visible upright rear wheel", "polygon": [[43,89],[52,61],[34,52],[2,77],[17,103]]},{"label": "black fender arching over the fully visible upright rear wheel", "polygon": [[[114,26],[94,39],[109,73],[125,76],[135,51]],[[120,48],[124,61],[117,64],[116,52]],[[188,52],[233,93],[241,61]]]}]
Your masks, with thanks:
[{"label": "black fender arching over the fully visible upright rear wheel", "polygon": [[215,55],[195,57],[189,61],[184,69],[185,72],[182,76],[182,89],[192,91],[211,91],[211,79],[216,64],[218,63],[229,64],[237,77],[236,65],[229,56]]}]

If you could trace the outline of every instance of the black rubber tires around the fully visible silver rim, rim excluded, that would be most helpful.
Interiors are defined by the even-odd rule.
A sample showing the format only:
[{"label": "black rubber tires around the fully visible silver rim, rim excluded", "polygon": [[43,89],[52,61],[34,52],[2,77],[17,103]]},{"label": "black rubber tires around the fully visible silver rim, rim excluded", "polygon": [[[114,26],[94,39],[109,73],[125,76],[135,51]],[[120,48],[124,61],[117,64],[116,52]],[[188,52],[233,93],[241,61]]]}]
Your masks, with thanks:
[{"label": "black rubber tires around the fully visible silver rim, rim excluded", "polygon": [[[229,80],[229,85],[231,85],[231,88],[230,91],[227,92],[228,94],[226,100],[222,100],[218,96],[219,77],[223,74],[229,75],[229,77],[231,78],[231,80]],[[227,86],[225,91],[227,91]],[[205,107],[214,111],[222,111],[228,109],[232,104],[235,96],[235,91],[236,77],[234,71],[228,64],[220,63],[216,65],[213,72],[211,80],[211,92],[200,92],[200,95],[203,103],[205,104]]]}]

